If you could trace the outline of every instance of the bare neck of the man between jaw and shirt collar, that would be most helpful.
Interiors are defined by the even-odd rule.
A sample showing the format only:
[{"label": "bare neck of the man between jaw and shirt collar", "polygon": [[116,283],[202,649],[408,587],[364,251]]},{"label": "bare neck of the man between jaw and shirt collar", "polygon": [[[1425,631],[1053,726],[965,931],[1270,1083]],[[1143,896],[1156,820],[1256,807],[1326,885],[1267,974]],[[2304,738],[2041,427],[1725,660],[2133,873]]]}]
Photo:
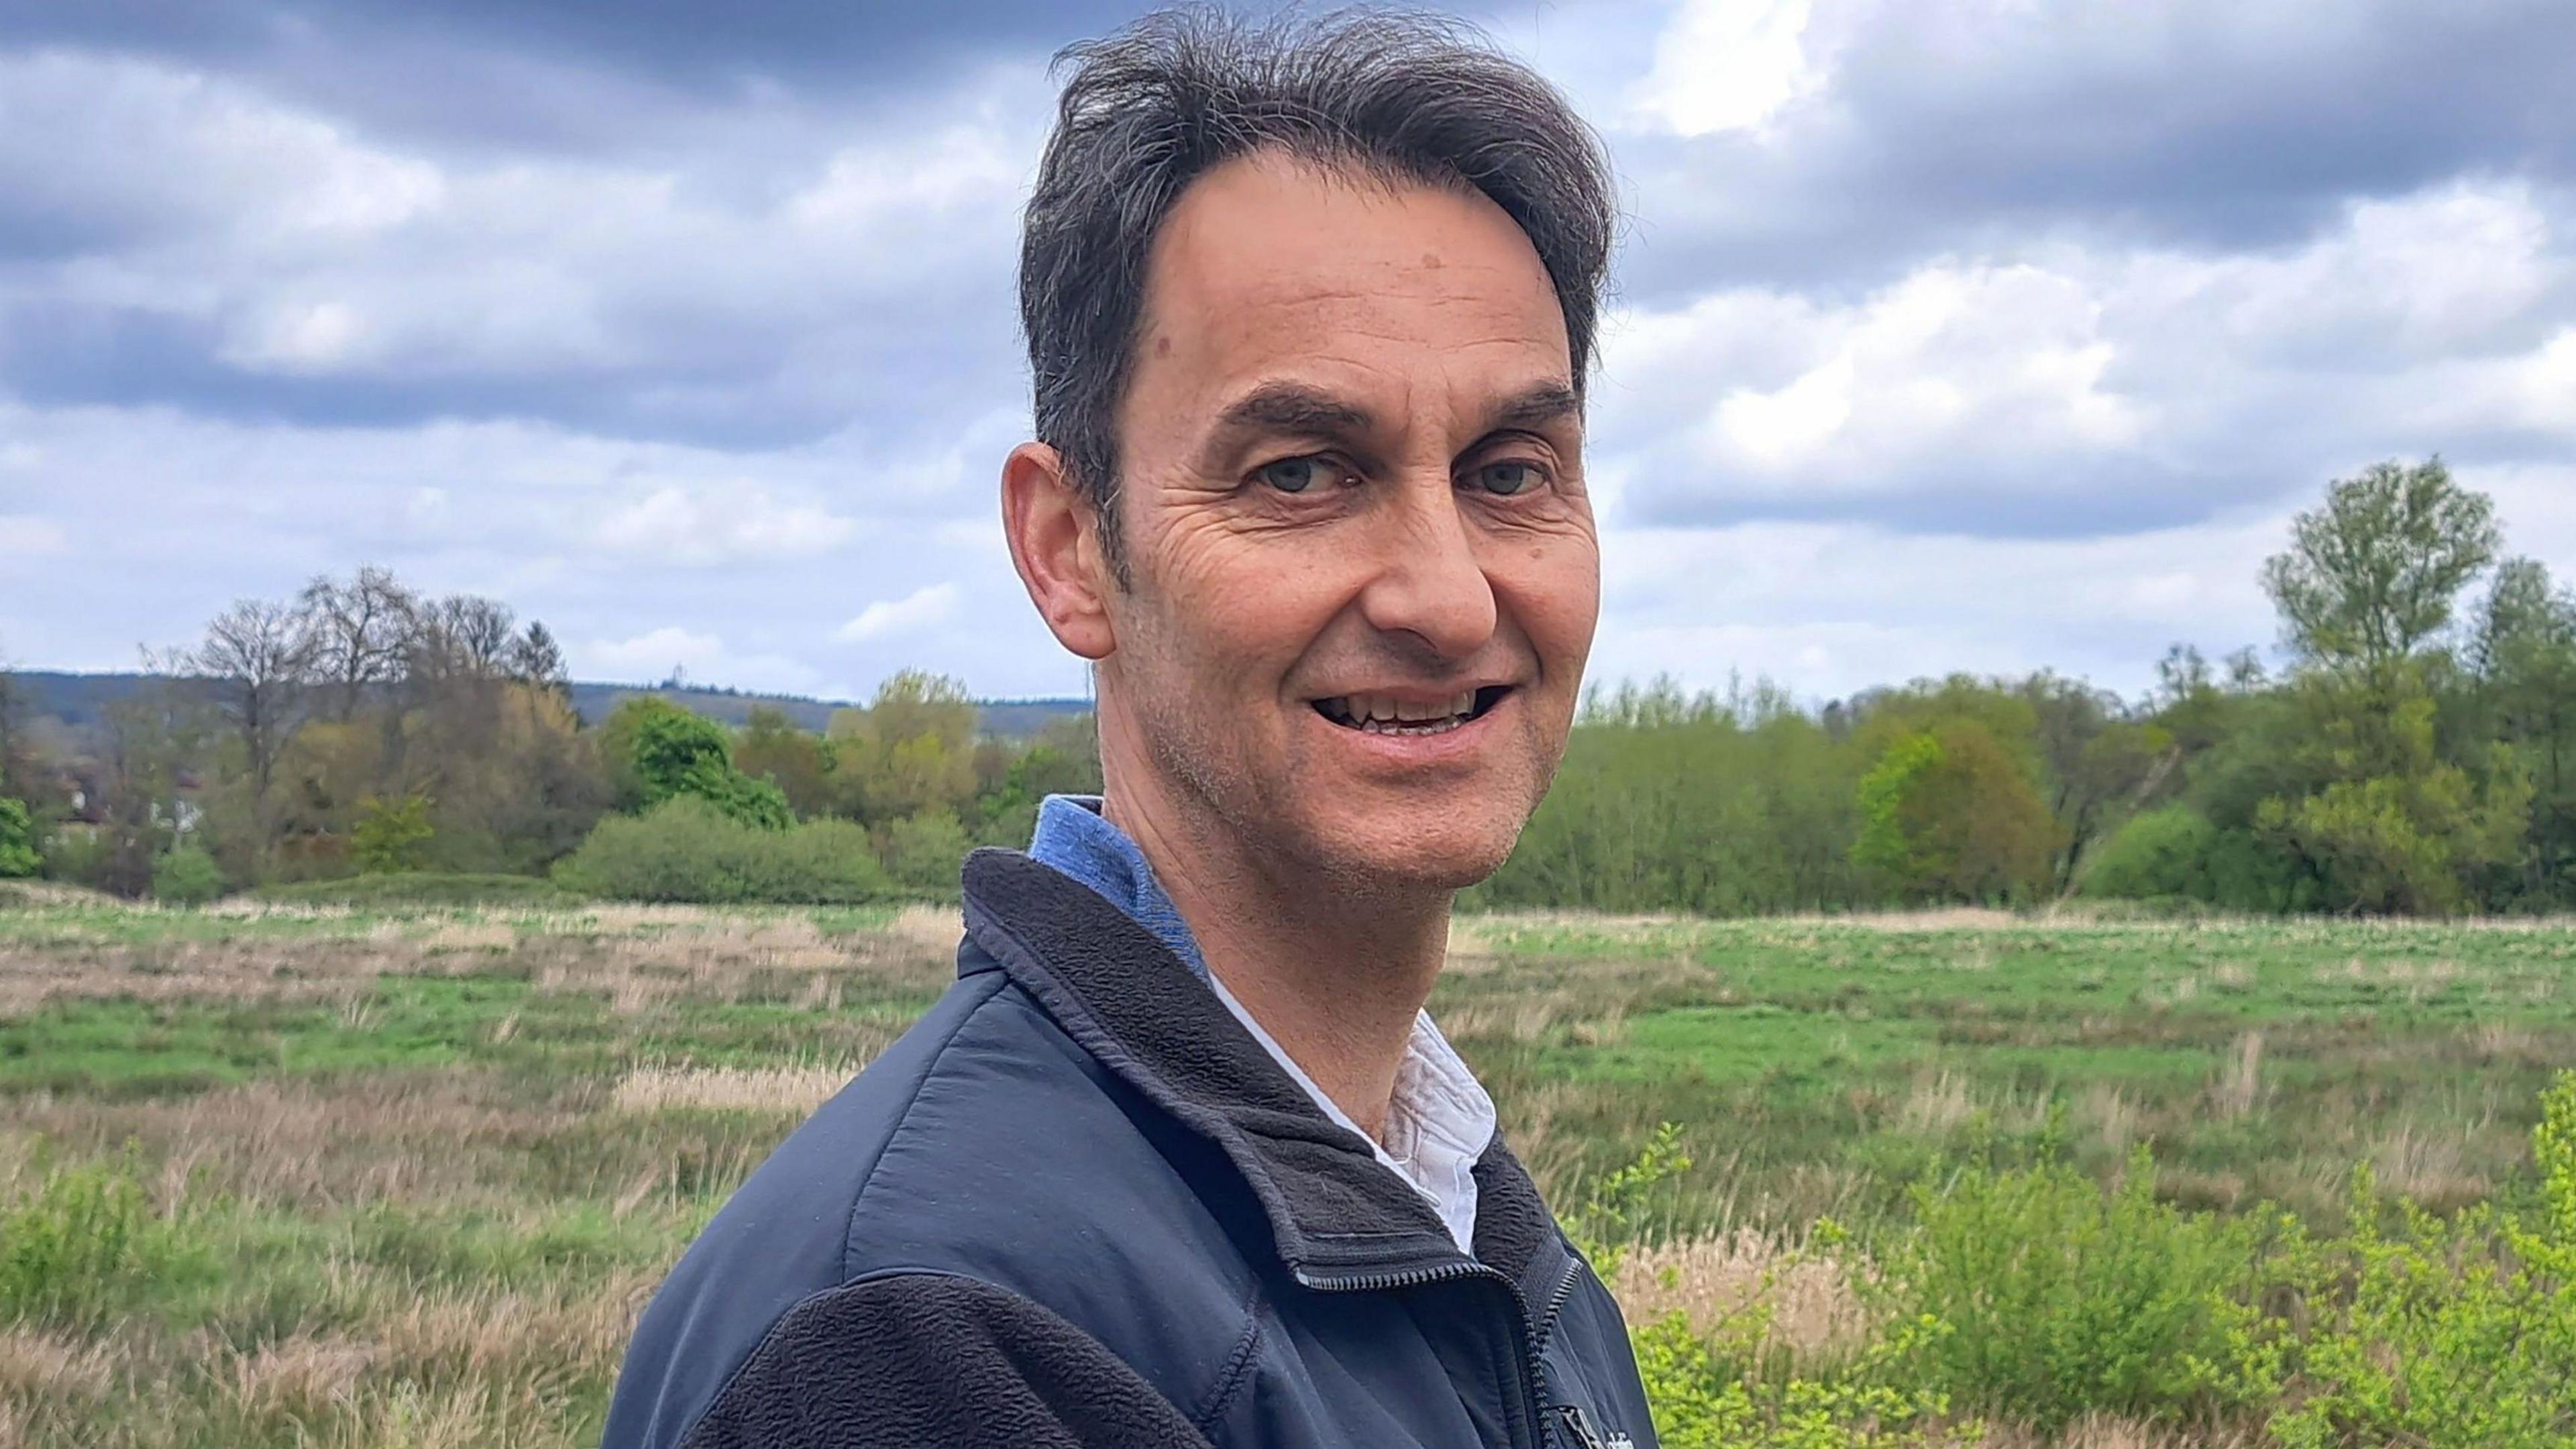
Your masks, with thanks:
[{"label": "bare neck of the man between jaw and shirt collar", "polygon": [[1450,892],[1368,892],[1244,848],[1167,794],[1110,781],[1103,815],[1154,866],[1208,969],[1370,1137],[1448,951]]}]

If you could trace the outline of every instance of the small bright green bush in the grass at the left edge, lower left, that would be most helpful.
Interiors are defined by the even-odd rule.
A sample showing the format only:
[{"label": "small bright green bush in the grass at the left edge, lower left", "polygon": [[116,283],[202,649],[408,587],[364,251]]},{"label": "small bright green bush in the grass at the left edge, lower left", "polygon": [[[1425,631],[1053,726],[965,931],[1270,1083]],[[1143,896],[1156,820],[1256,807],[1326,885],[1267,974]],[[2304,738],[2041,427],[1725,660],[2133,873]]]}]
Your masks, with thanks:
[{"label": "small bright green bush in the grass at the left edge, lower left", "polygon": [[131,1173],[59,1168],[0,1209],[0,1320],[95,1330],[185,1266]]}]

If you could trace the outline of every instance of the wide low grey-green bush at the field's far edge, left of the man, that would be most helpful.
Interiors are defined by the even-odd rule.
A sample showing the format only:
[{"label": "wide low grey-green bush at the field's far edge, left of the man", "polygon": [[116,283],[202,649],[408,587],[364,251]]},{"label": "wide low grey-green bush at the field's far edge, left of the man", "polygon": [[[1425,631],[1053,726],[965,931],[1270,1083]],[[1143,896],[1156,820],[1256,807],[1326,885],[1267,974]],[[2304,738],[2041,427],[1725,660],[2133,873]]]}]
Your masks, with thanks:
[{"label": "wide low grey-green bush at the field's far edge, left of the man", "polygon": [[608,900],[703,905],[858,905],[896,895],[868,833],[848,820],[765,830],[688,794],[600,820],[554,879]]}]

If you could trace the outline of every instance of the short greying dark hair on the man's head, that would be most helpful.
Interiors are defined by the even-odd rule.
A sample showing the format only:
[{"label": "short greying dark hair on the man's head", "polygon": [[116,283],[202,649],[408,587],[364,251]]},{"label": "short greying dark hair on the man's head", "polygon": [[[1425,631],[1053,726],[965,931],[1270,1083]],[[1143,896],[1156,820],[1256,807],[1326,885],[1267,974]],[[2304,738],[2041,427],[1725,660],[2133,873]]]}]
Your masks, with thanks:
[{"label": "short greying dark hair on the man's head", "polygon": [[1618,211],[1600,139],[1538,72],[1437,15],[1342,10],[1244,21],[1159,10],[1064,49],[1056,134],[1020,232],[1020,325],[1038,441],[1054,446],[1118,547],[1118,400],[1154,232],[1193,180],[1285,152],[1386,180],[1473,188],[1530,237],[1566,315],[1574,387]]}]

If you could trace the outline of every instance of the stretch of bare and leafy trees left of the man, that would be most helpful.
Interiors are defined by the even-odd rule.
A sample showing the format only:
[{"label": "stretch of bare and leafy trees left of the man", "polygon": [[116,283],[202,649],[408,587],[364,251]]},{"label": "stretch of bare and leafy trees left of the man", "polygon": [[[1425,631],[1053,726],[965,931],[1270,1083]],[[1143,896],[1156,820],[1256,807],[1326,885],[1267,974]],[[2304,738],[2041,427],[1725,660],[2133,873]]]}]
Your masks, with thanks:
[{"label": "stretch of bare and leafy trees left of the man", "polygon": [[[585,722],[544,624],[374,567],[237,601],[147,665],[162,678],[88,730],[31,717],[0,676],[0,877],[206,900],[353,874],[546,874],[582,866],[603,822],[688,797],[652,833],[680,864],[659,861],[641,895],[788,900],[832,882],[848,900],[953,890],[969,846],[1025,843],[1046,792],[1100,786],[1090,717],[981,737],[966,691],[927,673],[822,732],[781,709],[737,730],[657,696]],[[822,822],[837,830],[799,835]],[[708,853],[734,879],[675,877]],[[639,895],[598,859],[585,869]]]}]

